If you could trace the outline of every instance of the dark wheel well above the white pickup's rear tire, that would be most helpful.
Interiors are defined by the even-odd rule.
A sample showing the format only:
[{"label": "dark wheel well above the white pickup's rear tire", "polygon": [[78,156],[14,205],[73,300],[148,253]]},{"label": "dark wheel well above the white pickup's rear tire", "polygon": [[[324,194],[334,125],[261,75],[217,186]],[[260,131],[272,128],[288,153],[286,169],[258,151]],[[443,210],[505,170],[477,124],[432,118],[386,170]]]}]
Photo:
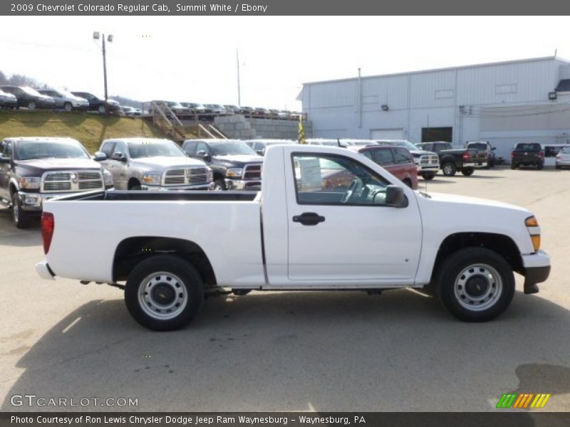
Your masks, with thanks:
[{"label": "dark wheel well above the white pickup's rear tire", "polygon": [[127,280],[138,263],[154,255],[177,255],[189,261],[202,276],[206,288],[216,285],[216,275],[206,253],[196,243],[180,238],[139,236],[120,242],[113,258],[113,281]]}]

